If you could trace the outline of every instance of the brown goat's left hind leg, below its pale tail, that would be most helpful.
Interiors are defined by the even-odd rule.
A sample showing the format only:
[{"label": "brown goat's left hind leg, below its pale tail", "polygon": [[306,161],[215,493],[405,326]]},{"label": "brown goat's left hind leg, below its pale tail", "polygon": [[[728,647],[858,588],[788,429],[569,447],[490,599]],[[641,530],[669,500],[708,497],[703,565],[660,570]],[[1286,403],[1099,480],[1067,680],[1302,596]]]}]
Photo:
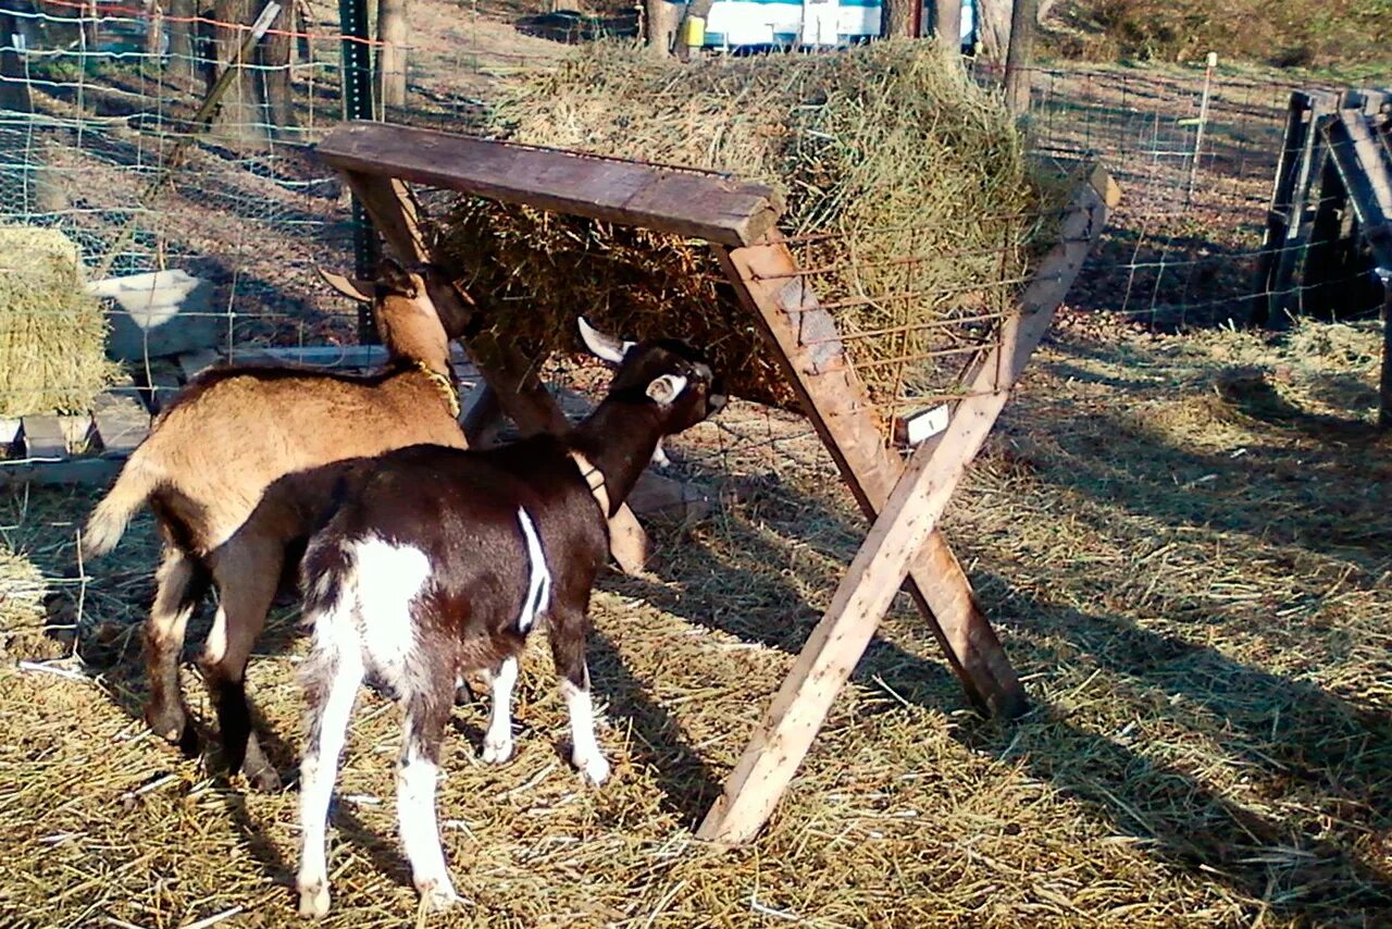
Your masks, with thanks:
[{"label": "brown goat's left hind leg, below its pale tail", "polygon": [[184,631],[207,593],[209,574],[192,556],[167,545],[164,560],[155,572],[155,603],[145,623],[145,676],[150,688],[145,723],[156,734],[177,742],[185,754],[195,755],[198,734],[184,710],[178,666]]}]

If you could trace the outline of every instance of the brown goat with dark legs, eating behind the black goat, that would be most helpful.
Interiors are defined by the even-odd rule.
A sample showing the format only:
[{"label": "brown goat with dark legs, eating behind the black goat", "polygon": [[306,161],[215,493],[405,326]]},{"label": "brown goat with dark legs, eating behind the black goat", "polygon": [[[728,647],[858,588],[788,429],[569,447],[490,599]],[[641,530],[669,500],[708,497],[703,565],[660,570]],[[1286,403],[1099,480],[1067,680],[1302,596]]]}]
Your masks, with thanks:
[{"label": "brown goat with dark legs, eating behind the black goat", "polygon": [[217,584],[199,663],[231,770],[264,790],[280,779],[252,733],[244,674],[281,578],[292,577],[352,460],[419,443],[466,446],[450,372],[450,340],[469,323],[458,291],[427,266],[406,272],[391,260],[366,287],[324,277],[344,294],[372,295],[386,369],[370,377],[298,368],[203,372],[160,412],[84,539],[85,556],[102,556],[143,503],[155,511],[166,545],[145,631],[145,719],[185,751],[198,740],[178,657],[189,616]]}]

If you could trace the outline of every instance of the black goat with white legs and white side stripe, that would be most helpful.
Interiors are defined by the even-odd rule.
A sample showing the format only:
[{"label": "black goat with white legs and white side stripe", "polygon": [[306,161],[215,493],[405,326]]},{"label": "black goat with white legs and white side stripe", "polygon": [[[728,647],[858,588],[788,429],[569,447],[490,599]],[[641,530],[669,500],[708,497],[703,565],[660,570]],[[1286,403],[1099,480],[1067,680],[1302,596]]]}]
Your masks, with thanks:
[{"label": "black goat with white legs and white side stripe", "polygon": [[564,436],[487,451],[413,446],[381,455],[305,554],[309,737],[301,762],[299,911],[329,911],[324,830],[338,755],[359,685],[405,709],[397,769],[401,840],[416,889],[455,900],[436,826],[440,742],[455,680],[491,671],[487,762],[512,755],[516,656],[546,624],[571,716],[571,760],[603,783],[585,627],[608,554],[608,522],[661,436],[715,414],[725,397],[692,347],[622,344],[583,327],[590,350],[618,361],[608,396]]}]

